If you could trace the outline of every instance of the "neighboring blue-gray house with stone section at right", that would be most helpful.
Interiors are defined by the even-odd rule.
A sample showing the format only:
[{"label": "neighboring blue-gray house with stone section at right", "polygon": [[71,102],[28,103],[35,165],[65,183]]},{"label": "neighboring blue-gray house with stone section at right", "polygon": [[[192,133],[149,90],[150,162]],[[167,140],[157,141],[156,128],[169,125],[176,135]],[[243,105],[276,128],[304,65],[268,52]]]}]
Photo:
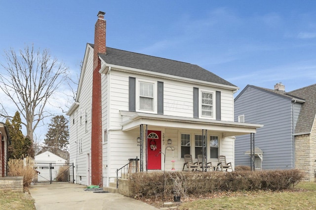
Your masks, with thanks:
[{"label": "neighboring blue-gray house with stone section at right", "polygon": [[[255,148],[256,169],[302,169],[306,180],[316,170],[316,84],[285,92],[247,85],[235,98],[235,121],[260,123]],[[250,165],[250,138],[237,136],[235,166]],[[262,165],[261,165],[262,164]]]}]

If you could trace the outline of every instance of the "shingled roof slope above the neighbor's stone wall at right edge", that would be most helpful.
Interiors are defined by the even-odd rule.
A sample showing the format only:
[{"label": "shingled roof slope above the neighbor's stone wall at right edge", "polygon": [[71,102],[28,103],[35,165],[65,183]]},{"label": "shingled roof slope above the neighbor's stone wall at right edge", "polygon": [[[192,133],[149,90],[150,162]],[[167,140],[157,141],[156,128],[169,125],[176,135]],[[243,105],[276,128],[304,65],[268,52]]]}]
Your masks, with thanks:
[{"label": "shingled roof slope above the neighbor's stone wall at right edge", "polygon": [[316,116],[316,84],[288,92],[292,95],[299,95],[306,100],[302,104],[298,117],[295,133],[309,133],[312,131]]}]

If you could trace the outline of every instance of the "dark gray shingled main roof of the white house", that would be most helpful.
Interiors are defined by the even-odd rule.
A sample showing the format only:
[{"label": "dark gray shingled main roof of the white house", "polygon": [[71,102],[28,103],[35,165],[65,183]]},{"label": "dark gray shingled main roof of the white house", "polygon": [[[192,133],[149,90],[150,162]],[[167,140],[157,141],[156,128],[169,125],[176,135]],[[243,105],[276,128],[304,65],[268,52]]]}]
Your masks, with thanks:
[{"label": "dark gray shingled main roof of the white house", "polygon": [[[94,46],[93,44],[89,45],[92,47]],[[99,54],[99,56],[108,64],[237,87],[195,64],[163,59],[110,47],[107,47],[106,54]]]}]

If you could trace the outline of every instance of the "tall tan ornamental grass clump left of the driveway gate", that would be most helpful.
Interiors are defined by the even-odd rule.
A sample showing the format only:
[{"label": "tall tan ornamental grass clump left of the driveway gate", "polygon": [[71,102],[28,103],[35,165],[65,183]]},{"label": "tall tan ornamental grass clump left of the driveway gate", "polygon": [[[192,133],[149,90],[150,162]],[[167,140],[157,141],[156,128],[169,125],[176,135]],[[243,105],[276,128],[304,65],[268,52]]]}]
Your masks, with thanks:
[{"label": "tall tan ornamental grass clump left of the driveway gate", "polygon": [[33,179],[37,176],[34,170],[34,160],[32,157],[25,157],[24,159],[9,159],[8,161],[8,176],[23,177],[23,186],[30,186]]}]

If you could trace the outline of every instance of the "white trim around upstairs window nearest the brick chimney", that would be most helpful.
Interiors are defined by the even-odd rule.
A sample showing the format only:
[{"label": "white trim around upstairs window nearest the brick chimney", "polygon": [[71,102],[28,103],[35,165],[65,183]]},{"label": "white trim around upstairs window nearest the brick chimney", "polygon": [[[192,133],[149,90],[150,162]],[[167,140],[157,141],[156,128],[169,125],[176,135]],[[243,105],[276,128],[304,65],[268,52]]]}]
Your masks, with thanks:
[{"label": "white trim around upstairs window nearest the brick chimney", "polygon": [[[154,85],[154,100],[153,100],[153,111],[148,111],[148,110],[141,110],[139,109],[140,103],[139,103],[139,84],[140,83],[150,83]],[[157,97],[158,97],[158,93],[157,93],[157,81],[153,81],[153,80],[146,80],[146,79],[139,79],[136,78],[136,87],[135,87],[135,94],[136,94],[136,100],[135,100],[135,105],[136,105],[136,112],[143,112],[143,113],[151,113],[151,114],[157,114]]]}]

